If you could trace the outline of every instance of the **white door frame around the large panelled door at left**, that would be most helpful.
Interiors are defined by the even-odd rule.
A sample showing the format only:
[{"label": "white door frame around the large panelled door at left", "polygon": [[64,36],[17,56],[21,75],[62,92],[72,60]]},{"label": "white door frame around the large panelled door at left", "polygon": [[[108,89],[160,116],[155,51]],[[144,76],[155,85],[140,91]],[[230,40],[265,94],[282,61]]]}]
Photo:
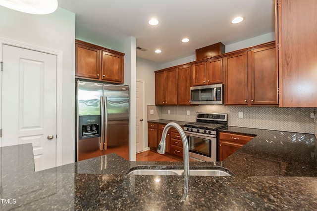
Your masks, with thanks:
[{"label": "white door frame around the large panelled door at left", "polygon": [[[56,59],[57,59],[57,64],[56,64],[56,68],[57,68],[56,70],[56,167],[61,166],[62,165],[62,144],[63,144],[63,140],[62,140],[63,52],[0,37],[0,61],[2,61],[2,45],[3,44],[56,55]],[[1,126],[1,122],[2,122],[1,105],[2,105],[2,71],[0,71],[0,128],[2,127]],[[0,144],[1,144],[1,137],[0,137]]]}]

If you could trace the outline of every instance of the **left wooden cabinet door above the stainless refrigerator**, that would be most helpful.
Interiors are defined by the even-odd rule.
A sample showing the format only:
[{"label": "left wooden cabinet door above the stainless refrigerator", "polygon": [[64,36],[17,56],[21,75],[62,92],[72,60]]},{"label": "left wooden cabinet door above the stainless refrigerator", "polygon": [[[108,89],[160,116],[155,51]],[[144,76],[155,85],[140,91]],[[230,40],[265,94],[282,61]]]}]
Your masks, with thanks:
[{"label": "left wooden cabinet door above the stainless refrigerator", "polygon": [[100,50],[76,43],[76,76],[100,78]]}]

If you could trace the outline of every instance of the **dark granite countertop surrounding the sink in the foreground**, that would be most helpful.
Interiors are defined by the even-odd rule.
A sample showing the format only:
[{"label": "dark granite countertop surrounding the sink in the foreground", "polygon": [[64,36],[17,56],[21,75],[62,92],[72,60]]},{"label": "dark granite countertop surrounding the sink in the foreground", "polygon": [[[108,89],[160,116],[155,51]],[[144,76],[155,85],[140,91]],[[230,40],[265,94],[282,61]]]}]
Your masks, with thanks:
[{"label": "dark granite countertop surrounding the sink in the foreground", "polygon": [[[1,210],[316,210],[316,137],[313,134],[227,127],[256,137],[219,166],[233,176],[128,175],[138,166],[182,162],[129,162],[116,154],[34,172],[31,144],[0,148]],[[5,200],[5,201],[4,201]]]}]

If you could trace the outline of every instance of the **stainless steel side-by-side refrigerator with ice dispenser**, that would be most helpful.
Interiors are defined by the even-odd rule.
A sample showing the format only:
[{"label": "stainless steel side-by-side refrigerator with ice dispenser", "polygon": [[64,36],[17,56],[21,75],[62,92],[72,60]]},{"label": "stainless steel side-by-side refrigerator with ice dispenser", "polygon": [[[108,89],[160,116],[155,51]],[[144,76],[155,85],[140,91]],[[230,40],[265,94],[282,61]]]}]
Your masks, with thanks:
[{"label": "stainless steel side-by-side refrigerator with ice dispenser", "polygon": [[76,112],[76,161],[110,153],[129,159],[129,86],[78,80]]}]

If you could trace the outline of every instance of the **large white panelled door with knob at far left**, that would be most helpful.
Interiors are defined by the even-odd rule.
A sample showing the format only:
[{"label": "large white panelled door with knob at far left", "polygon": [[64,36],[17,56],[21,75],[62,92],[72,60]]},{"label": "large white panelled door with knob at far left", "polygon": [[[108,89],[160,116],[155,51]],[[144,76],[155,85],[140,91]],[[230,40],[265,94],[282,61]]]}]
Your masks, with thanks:
[{"label": "large white panelled door with knob at far left", "polygon": [[56,166],[57,57],[2,45],[1,146],[32,143],[35,170]]}]

